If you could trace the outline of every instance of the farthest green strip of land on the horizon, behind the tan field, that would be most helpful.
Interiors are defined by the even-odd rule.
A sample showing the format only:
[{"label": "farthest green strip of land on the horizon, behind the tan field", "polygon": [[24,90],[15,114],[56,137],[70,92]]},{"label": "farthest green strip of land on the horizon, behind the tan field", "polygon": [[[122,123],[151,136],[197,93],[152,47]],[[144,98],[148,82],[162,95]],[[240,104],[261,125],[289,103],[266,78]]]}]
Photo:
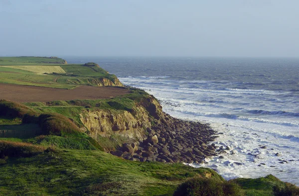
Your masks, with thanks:
[{"label": "farthest green strip of land on the horizon, behind the tan field", "polygon": [[57,57],[0,57],[0,65],[57,65],[65,63],[63,59]]}]

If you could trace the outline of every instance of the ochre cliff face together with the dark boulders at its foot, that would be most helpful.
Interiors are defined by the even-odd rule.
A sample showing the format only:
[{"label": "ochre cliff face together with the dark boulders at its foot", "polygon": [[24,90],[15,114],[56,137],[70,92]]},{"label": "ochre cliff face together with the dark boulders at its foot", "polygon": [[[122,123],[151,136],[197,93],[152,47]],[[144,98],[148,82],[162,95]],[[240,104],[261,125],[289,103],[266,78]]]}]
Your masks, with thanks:
[{"label": "ochre cliff face together with the dark boulders at its foot", "polygon": [[80,120],[86,133],[104,145],[106,151],[125,159],[198,163],[215,155],[215,146],[209,145],[215,138],[213,130],[200,123],[172,118],[162,112],[158,101],[150,95],[136,100],[129,111],[87,110],[80,114]]}]

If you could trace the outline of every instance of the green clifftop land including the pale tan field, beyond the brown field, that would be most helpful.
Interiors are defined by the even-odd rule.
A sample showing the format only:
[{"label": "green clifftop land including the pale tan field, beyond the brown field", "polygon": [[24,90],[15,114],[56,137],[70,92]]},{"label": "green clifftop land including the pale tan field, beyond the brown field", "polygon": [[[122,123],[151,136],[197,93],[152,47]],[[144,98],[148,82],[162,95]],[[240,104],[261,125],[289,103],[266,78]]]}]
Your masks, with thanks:
[{"label": "green clifftop land including the pale tan field, beyond the brown field", "polygon": [[[11,67],[13,66],[0,66],[0,83],[71,89],[79,85],[98,86],[103,83],[102,78],[112,82],[117,79],[115,75],[103,71],[102,68],[92,69],[84,65]],[[48,74],[40,74],[45,72]]]}]

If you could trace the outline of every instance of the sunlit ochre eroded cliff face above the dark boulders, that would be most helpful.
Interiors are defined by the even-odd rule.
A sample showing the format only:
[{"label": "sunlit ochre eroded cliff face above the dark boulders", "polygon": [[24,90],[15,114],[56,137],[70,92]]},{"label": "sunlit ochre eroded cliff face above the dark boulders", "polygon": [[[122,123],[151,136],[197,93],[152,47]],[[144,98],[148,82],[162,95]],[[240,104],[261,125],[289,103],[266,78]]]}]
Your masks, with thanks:
[{"label": "sunlit ochre eroded cliff face above the dark boulders", "polygon": [[86,133],[98,139],[120,135],[128,142],[143,141],[148,137],[147,128],[164,120],[162,107],[152,96],[136,103],[131,112],[126,110],[86,110],[80,114]]}]

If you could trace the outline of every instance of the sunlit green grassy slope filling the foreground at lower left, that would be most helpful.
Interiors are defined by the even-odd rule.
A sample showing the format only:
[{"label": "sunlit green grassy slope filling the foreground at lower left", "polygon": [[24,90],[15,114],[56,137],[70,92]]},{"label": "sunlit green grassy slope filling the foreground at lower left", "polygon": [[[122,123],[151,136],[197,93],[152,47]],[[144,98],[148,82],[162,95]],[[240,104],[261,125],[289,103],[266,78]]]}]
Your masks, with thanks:
[{"label": "sunlit green grassy slope filling the foreground at lower left", "polygon": [[55,150],[9,158],[0,166],[3,195],[172,195],[184,180],[213,170],[142,163],[95,150]]}]

